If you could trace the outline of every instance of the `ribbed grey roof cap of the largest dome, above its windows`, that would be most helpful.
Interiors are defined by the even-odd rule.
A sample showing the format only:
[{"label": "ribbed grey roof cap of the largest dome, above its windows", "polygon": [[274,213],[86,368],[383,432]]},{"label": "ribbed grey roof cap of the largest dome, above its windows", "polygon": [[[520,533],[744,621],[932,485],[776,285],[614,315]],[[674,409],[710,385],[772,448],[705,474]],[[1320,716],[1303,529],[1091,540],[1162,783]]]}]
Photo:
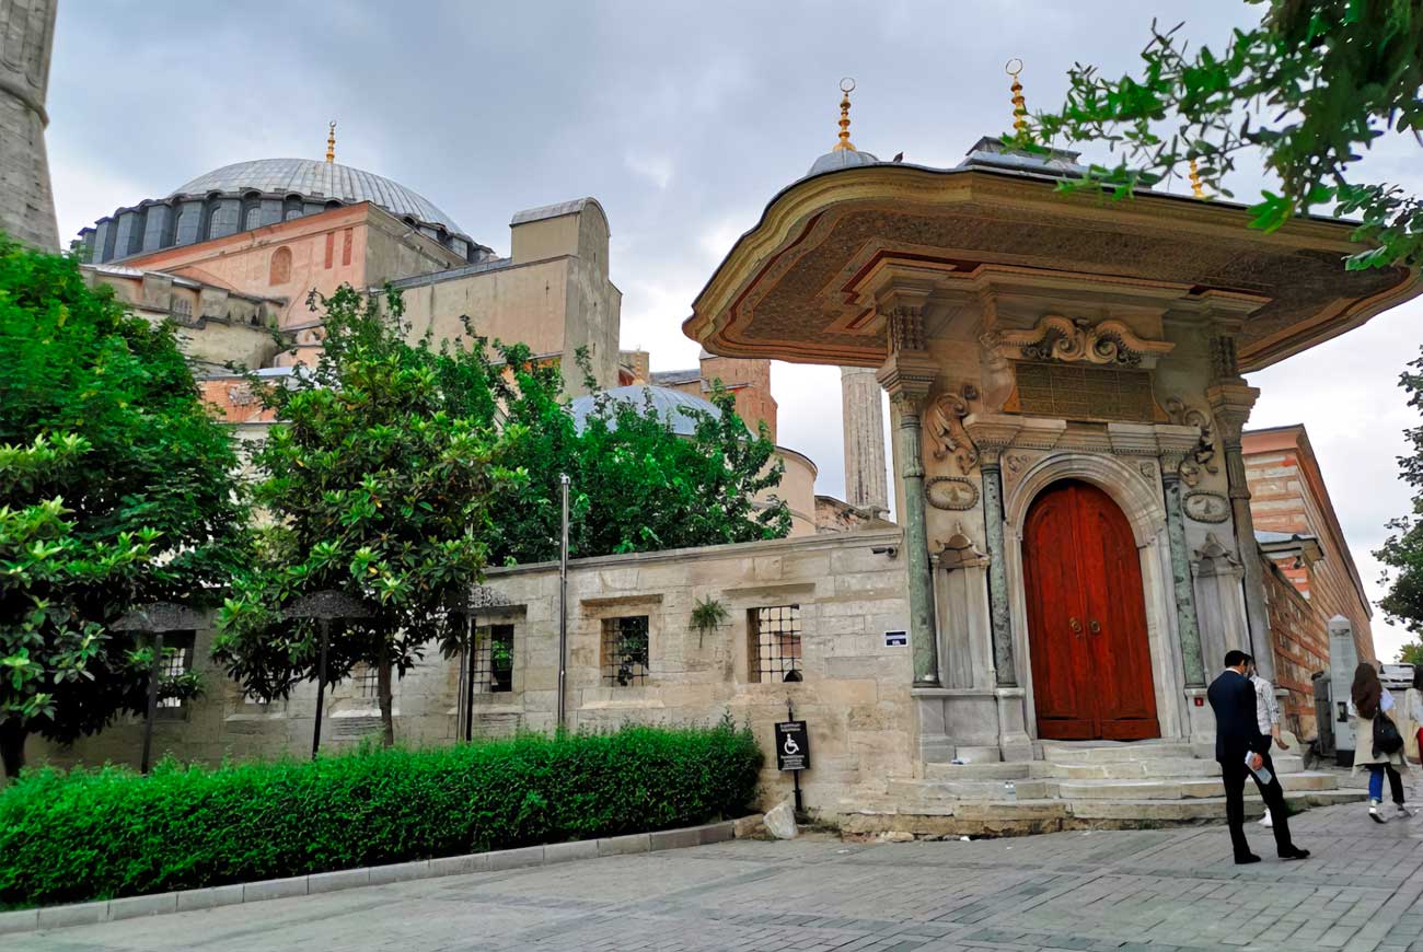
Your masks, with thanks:
[{"label": "ribbed grey roof cap of the largest dome, above its windows", "polygon": [[185,182],[169,198],[209,192],[334,198],[347,205],[371,202],[397,218],[408,215],[427,225],[444,225],[457,235],[464,233],[453,218],[404,185],[374,172],[320,159],[255,159],[223,165]]}]

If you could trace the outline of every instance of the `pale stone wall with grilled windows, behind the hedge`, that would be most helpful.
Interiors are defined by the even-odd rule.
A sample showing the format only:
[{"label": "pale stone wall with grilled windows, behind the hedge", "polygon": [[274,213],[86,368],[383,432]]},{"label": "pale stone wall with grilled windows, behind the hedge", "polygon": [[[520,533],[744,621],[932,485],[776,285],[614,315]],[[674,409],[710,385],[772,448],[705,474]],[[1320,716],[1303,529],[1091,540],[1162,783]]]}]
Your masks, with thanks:
[{"label": "pale stone wall with grilled windows, behind the hedge", "polygon": [[[820,535],[575,561],[568,579],[568,724],[572,729],[638,723],[713,723],[724,713],[751,724],[767,751],[767,804],[785,795],[790,777],[776,771],[773,724],[787,700],[808,721],[813,770],[803,777],[805,804],[835,813],[841,801],[884,794],[891,778],[912,777],[916,761],[908,647],[887,647],[884,632],[908,625],[902,559],[875,554],[899,546],[898,529]],[[488,690],[488,653],[477,653],[475,730],[509,734],[551,730],[558,699],[556,565],[497,569],[485,586],[511,602],[478,619],[512,626],[511,690]],[[690,628],[693,605],[714,598],[729,612],[716,632]],[[794,609],[793,609],[794,606]],[[764,623],[761,609],[767,609]],[[771,610],[778,609],[778,610]],[[794,639],[767,633],[771,616],[797,622]],[[619,684],[616,619],[646,619],[647,663]],[[633,625],[636,628],[642,622]],[[507,630],[507,629],[505,629]],[[760,677],[757,645],[785,659],[803,680]],[[181,758],[300,756],[309,749],[314,686],[286,702],[250,703],[206,660],[211,633],[199,632],[195,659],[206,696],[157,721],[154,750]],[[783,665],[776,665],[783,667]],[[645,673],[645,680],[636,676]],[[373,676],[357,672],[329,693],[323,749],[357,743],[379,730]],[[394,692],[396,734],[406,744],[450,743],[457,736],[460,665],[430,650]],[[31,763],[135,763],[141,721],[127,719],[70,749],[33,741]]]}]

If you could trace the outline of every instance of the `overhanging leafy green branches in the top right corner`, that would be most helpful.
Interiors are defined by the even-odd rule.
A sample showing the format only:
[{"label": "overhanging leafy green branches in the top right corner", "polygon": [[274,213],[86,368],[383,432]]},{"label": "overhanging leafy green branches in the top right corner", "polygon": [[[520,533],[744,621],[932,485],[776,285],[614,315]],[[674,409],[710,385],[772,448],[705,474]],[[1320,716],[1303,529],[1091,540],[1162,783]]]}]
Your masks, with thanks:
[{"label": "overhanging leafy green branches in the top right corner", "polygon": [[1181,27],[1153,24],[1136,75],[1109,80],[1096,67],[1069,73],[1066,102],[1033,117],[1023,148],[1054,137],[1104,141],[1120,161],[1094,165],[1064,189],[1107,188],[1128,196],[1197,162],[1222,185],[1237,157],[1258,151],[1279,179],[1251,208],[1274,231],[1291,216],[1333,203],[1358,215],[1355,238],[1372,248],[1349,268],[1423,265],[1423,203],[1402,186],[1360,182],[1360,154],[1386,135],[1423,132],[1423,9],[1413,0],[1247,0],[1259,26],[1234,31],[1222,51],[1192,50]]}]

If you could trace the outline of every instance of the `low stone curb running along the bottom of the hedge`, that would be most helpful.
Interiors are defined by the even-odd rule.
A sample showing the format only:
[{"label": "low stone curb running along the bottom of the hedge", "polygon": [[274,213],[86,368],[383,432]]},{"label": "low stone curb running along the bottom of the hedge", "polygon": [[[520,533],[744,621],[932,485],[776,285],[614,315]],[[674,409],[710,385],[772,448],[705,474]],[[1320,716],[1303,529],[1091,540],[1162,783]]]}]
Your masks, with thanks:
[{"label": "low stone curb running along the bottom of the hedge", "polygon": [[[700,847],[734,840],[737,827],[740,825],[744,830],[747,820],[753,818],[726,820],[723,823],[709,823],[680,830],[659,830],[657,832],[635,832],[628,837],[551,842],[542,847],[522,847],[519,850],[471,852],[462,857],[394,862],[361,869],[312,872],[305,877],[287,877],[285,879],[235,882],[206,889],[182,889],[179,892],[159,892],[154,895],[125,897],[122,899],[101,899],[98,902],[0,912],[0,935],[43,932],[73,925],[100,925],[120,919],[215,909],[223,905],[262,902],[265,899],[320,895],[323,892],[336,892],[337,889],[359,889],[367,885],[407,882],[410,879],[460,877],[471,872],[544,867],[556,862],[571,862],[573,860],[595,860],[598,857],[622,857],[638,852]],[[750,825],[754,827],[754,824]],[[743,832],[741,835],[746,834]]]}]

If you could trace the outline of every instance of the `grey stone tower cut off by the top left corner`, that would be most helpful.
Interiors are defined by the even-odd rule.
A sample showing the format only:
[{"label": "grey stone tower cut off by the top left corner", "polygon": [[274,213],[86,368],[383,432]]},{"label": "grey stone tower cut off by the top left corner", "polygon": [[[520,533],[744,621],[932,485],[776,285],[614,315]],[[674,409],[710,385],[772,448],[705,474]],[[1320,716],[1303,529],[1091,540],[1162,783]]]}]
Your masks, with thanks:
[{"label": "grey stone tower cut off by the top left corner", "polygon": [[0,0],[0,231],[40,248],[60,245],[44,152],[58,0]]}]

